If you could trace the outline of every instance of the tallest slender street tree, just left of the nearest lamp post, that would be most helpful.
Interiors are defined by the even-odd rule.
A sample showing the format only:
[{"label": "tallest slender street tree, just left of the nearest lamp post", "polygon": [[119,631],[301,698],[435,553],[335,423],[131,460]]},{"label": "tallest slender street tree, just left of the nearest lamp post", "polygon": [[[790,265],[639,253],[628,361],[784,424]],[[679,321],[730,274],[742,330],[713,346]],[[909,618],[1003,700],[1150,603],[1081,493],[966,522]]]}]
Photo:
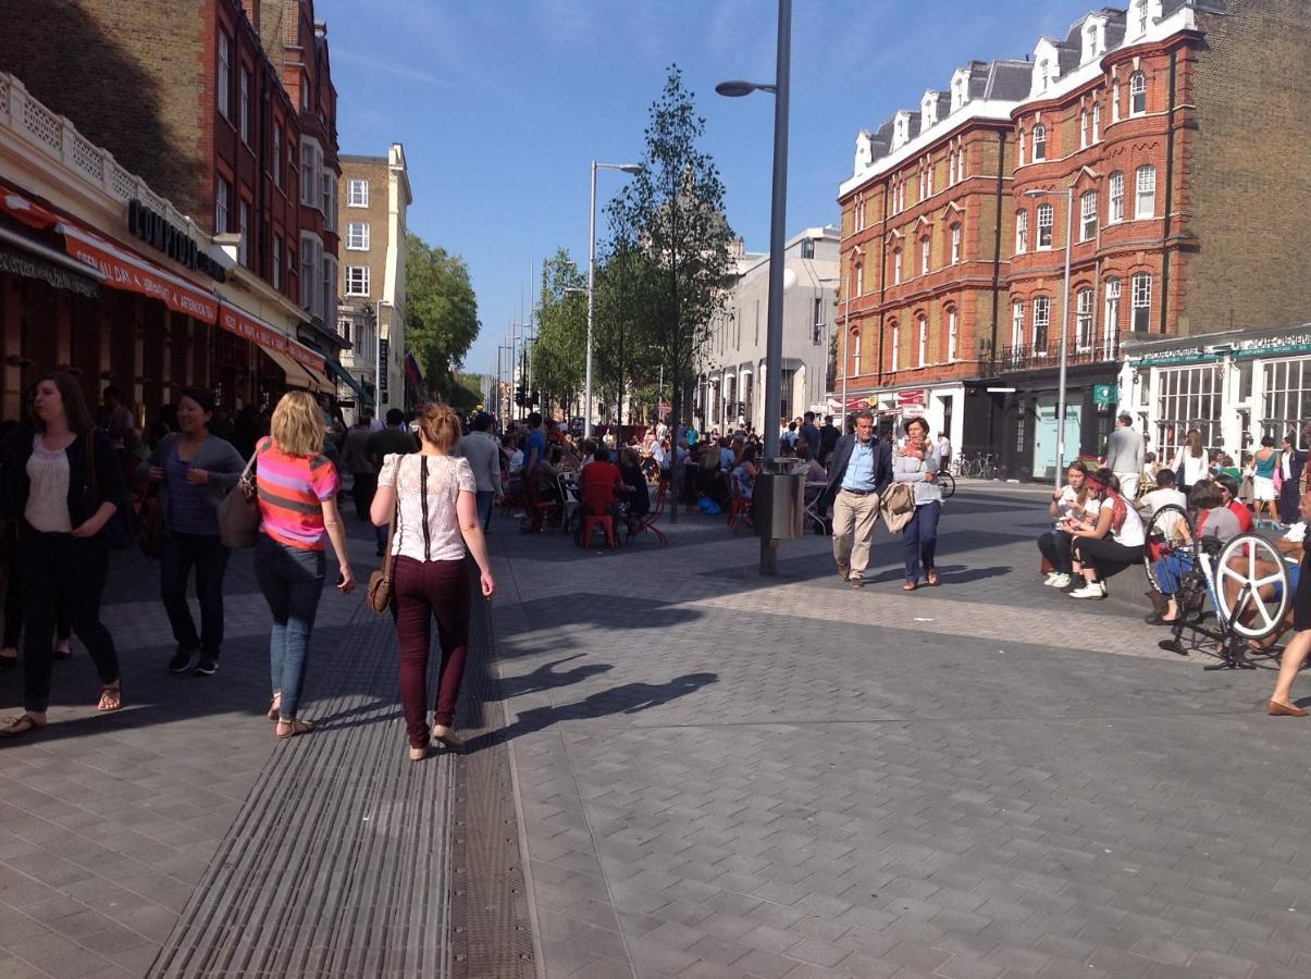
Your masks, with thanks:
[{"label": "tallest slender street tree, just left of the nearest lamp post", "polygon": [[[638,248],[654,262],[665,301],[653,307],[653,332],[670,384],[673,427],[688,417],[694,363],[725,301],[729,241],[724,182],[699,148],[705,119],[678,66],[652,104],[642,170],[607,207],[614,246]],[[678,507],[670,507],[676,519]]]}]

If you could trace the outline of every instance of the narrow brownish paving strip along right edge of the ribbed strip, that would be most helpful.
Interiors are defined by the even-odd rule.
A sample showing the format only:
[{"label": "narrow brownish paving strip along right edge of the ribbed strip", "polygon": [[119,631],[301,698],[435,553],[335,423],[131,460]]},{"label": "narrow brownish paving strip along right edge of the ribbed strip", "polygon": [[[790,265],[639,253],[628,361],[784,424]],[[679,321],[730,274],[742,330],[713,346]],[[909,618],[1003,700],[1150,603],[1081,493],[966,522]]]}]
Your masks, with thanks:
[{"label": "narrow brownish paving strip along right edge of the ribbed strip", "polygon": [[475,595],[459,729],[476,750],[455,765],[452,979],[538,974],[494,650],[490,607]]}]

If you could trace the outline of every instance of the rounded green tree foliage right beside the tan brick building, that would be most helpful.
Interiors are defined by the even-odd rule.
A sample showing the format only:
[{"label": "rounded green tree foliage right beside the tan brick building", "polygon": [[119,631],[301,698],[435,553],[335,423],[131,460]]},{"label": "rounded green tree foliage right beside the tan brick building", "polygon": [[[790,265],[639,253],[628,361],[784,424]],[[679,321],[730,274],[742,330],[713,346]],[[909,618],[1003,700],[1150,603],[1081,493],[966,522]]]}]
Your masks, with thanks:
[{"label": "rounded green tree foliage right beside the tan brick building", "polygon": [[430,396],[451,401],[455,370],[479,336],[479,304],[464,259],[405,233],[405,345]]}]

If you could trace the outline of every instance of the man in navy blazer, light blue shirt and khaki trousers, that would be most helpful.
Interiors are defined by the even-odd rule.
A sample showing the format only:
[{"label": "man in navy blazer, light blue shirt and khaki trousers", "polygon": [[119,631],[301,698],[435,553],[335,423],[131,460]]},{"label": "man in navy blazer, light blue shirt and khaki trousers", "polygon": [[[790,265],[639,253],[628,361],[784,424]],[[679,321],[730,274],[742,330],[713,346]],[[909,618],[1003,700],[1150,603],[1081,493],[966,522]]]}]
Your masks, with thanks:
[{"label": "man in navy blazer, light blue shirt and khaki trousers", "polygon": [[832,556],[838,574],[853,588],[865,585],[878,499],[891,480],[891,455],[874,438],[874,417],[868,410],[857,412],[855,432],[843,435],[834,447],[829,485],[819,505],[819,512],[832,506]]}]

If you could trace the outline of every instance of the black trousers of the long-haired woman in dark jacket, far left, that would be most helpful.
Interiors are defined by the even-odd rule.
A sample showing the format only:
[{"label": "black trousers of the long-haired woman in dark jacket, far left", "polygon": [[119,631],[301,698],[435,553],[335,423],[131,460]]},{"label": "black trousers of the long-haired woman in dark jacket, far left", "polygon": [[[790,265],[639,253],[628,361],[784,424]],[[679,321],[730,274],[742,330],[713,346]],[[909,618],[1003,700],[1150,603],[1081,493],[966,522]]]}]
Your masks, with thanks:
[{"label": "black trousers of the long-haired woman in dark jacket, far left", "polygon": [[42,533],[28,524],[18,531],[18,574],[22,579],[24,709],[43,713],[50,706],[50,674],[59,602],[67,603],[68,620],[87,646],[102,685],[118,680],[114,637],[100,621],[100,599],[109,574],[109,549],[96,537]]}]

